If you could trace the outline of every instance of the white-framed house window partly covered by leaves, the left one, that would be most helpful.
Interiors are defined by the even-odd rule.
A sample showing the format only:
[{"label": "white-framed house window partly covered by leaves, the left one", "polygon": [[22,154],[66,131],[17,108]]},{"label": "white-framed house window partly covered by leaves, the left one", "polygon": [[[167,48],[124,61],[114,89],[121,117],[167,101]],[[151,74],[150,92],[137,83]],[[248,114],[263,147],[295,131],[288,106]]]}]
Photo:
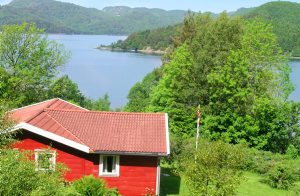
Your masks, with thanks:
[{"label": "white-framed house window partly covered by leaves, the left one", "polygon": [[35,163],[37,171],[55,170],[56,153],[50,150],[35,150]]}]

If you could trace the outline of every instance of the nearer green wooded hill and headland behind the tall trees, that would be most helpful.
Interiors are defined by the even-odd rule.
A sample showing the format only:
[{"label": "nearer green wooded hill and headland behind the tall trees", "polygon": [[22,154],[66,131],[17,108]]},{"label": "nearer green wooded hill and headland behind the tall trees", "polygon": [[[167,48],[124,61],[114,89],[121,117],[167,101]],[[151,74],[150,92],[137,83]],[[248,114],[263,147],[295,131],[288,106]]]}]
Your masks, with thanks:
[{"label": "nearer green wooded hill and headland behind the tall trees", "polygon": [[[270,2],[254,8],[240,8],[235,12],[229,12],[230,16],[241,16],[246,20],[260,18],[273,25],[274,33],[282,49],[293,56],[300,56],[300,4],[292,2]],[[126,40],[119,41],[116,45],[125,49],[153,49],[164,50],[172,43],[171,37],[176,34],[176,28],[160,28],[151,31],[142,31],[131,34]],[[150,39],[150,35],[161,34],[160,39]],[[166,37],[165,37],[166,36]],[[145,40],[141,38],[145,38]],[[158,36],[156,36],[158,37]],[[161,44],[163,43],[163,44]],[[159,47],[157,47],[159,46]]]}]

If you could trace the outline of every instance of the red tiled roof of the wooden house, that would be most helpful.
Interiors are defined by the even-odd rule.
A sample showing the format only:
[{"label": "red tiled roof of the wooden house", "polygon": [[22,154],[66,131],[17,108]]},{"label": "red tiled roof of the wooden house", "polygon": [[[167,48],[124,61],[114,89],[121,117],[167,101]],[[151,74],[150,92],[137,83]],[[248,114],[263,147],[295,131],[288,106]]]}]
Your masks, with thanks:
[{"label": "red tiled roof of the wooden house", "polygon": [[94,152],[168,154],[162,113],[95,112],[61,99],[13,110],[18,122],[51,132]]}]

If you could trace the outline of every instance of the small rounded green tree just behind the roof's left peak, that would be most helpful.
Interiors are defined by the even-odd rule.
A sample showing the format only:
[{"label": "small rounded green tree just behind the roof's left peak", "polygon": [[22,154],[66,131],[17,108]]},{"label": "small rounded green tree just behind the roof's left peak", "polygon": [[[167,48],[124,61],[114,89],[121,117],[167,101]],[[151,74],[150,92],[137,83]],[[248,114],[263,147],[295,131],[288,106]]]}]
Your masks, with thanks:
[{"label": "small rounded green tree just behind the roof's left peak", "polygon": [[70,80],[67,75],[62,76],[50,85],[48,97],[59,97],[81,106],[84,105],[85,101],[85,97],[80,92],[78,85]]}]

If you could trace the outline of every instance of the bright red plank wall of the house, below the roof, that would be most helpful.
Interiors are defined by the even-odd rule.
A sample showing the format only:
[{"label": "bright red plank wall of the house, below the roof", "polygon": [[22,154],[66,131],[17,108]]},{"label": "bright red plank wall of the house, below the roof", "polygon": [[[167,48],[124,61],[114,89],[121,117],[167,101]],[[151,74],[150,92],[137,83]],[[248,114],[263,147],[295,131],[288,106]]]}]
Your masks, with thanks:
[{"label": "bright red plank wall of the house, below the roof", "polygon": [[[69,168],[65,175],[67,181],[91,174],[99,177],[99,154],[87,154],[28,131],[18,133],[17,138],[20,141],[14,147],[19,150],[34,151],[51,146],[56,151],[56,162],[64,163]],[[117,187],[123,196],[141,196],[146,188],[153,189],[155,193],[156,173],[157,157],[120,156],[120,176],[104,179],[109,187]]]}]

